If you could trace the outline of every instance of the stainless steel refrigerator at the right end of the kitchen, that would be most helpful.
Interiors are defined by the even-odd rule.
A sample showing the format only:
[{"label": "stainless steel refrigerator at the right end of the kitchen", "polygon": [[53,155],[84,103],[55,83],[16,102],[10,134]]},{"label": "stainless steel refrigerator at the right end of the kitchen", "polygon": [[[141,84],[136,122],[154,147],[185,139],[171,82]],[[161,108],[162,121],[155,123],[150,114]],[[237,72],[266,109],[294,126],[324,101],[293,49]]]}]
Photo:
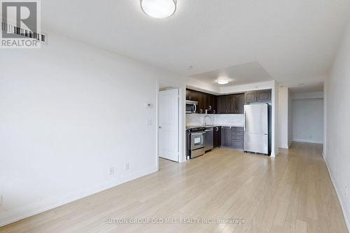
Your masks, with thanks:
[{"label": "stainless steel refrigerator at the right end of the kitchen", "polygon": [[244,151],[269,155],[269,105],[244,105]]}]

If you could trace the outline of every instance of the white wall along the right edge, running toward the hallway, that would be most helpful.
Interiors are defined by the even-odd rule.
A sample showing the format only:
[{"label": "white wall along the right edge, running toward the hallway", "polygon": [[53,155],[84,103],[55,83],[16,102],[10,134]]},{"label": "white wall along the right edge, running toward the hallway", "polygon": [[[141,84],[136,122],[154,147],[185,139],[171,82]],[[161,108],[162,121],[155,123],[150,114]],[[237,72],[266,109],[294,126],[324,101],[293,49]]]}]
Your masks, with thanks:
[{"label": "white wall along the right edge, running toward the hallway", "polygon": [[[350,23],[346,27],[330,76],[325,82],[326,98],[326,155],[325,161],[337,190],[340,204],[350,229]],[[349,190],[350,191],[350,190]]]}]

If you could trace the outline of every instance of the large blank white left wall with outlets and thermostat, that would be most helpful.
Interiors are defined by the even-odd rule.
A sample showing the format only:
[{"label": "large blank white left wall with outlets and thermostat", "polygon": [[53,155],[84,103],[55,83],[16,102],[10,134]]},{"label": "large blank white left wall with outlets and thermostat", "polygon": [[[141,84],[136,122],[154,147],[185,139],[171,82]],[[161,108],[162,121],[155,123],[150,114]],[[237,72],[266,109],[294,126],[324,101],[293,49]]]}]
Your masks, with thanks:
[{"label": "large blank white left wall with outlets and thermostat", "polygon": [[174,73],[49,36],[39,50],[0,52],[0,225],[156,171],[157,80],[185,87]]}]

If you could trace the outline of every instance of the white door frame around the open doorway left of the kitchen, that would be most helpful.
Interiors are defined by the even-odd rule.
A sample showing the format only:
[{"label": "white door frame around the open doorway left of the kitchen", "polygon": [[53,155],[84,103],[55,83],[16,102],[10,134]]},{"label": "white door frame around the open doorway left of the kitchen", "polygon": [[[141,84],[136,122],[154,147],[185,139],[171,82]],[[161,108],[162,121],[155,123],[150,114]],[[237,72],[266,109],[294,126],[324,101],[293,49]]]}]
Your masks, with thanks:
[{"label": "white door frame around the open doorway left of the kitchen", "polygon": [[169,80],[158,79],[156,82],[156,99],[155,99],[155,166],[159,169],[159,92],[160,85],[167,85],[179,89],[179,162],[186,161],[186,85],[173,83]]}]

